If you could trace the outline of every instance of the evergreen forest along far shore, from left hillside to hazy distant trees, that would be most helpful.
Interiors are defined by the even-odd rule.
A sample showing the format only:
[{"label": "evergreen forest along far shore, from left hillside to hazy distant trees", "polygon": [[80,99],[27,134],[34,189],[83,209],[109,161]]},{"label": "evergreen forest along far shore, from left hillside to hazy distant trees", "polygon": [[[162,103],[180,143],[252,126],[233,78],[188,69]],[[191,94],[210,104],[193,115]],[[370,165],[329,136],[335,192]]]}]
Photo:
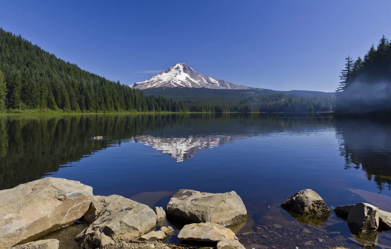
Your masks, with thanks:
[{"label": "evergreen forest along far shore, from left hillside to hazy distant trees", "polygon": [[333,97],[260,94],[235,103],[146,96],[0,28],[0,112],[322,112]]}]

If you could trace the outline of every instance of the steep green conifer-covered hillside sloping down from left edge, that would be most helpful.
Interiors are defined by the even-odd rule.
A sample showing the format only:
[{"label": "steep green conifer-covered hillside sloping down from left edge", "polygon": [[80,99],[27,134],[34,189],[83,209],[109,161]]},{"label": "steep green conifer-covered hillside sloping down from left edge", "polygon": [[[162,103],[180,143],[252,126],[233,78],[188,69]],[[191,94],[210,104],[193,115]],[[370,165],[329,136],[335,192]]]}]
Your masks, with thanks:
[{"label": "steep green conifer-covered hillside sloping down from left edge", "polygon": [[[146,97],[58,59],[0,28],[0,110],[63,112],[186,111],[179,101]],[[155,110],[155,109],[154,109]]]}]

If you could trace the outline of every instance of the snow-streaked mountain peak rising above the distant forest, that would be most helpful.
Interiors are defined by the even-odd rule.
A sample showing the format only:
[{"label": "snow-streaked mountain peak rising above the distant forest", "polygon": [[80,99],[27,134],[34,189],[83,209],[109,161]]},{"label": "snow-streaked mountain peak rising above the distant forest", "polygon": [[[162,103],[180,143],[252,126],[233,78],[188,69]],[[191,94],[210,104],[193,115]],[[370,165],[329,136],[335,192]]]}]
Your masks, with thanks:
[{"label": "snow-streaked mountain peak rising above the distant forest", "polygon": [[136,89],[147,89],[155,87],[206,87],[212,89],[251,89],[243,85],[235,85],[225,80],[214,78],[197,73],[185,63],[178,63],[167,71],[162,71],[149,80],[136,82],[131,86]]}]

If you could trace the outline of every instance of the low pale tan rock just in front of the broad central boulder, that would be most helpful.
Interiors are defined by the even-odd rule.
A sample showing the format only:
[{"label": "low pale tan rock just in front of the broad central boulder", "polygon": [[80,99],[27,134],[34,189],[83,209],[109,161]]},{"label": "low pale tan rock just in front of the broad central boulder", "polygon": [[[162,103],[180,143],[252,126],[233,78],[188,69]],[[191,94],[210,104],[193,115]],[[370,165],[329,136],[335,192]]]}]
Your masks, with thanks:
[{"label": "low pale tan rock just in front of the broad central boulder", "polygon": [[200,242],[219,242],[221,240],[236,239],[235,233],[223,226],[212,223],[193,223],[185,225],[178,234],[179,240],[194,240]]}]

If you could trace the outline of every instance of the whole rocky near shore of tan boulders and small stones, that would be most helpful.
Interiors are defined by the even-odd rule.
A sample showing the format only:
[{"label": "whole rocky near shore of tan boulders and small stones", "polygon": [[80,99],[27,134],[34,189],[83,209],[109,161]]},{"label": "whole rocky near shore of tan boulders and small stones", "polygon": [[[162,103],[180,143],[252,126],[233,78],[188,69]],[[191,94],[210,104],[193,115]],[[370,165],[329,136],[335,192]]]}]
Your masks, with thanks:
[{"label": "whole rocky near shore of tan boulders and small stones", "polygon": [[[378,237],[378,230],[391,230],[391,213],[368,203],[333,210],[349,235],[327,229],[344,221],[330,219],[333,212],[313,190],[280,206],[265,217],[283,212],[295,222],[258,226],[234,191],[181,189],[165,208],[152,210],[118,195],[94,196],[78,181],[48,177],[0,191],[0,249],[391,248],[389,233]],[[60,239],[65,233],[69,241]]]}]

